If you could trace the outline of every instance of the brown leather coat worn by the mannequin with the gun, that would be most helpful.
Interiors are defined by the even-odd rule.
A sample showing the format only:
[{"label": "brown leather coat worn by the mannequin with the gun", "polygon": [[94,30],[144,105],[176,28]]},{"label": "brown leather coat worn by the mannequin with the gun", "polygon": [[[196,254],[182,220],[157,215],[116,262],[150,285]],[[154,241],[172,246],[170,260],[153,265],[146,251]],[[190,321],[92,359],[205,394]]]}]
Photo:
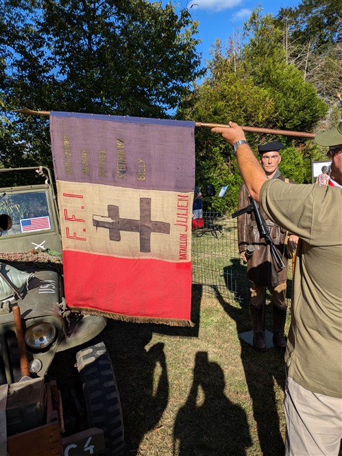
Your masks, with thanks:
[{"label": "brown leather coat worn by the mannequin with the gun", "polygon": [[[278,179],[284,182],[284,178],[279,176]],[[293,181],[289,181],[294,183]],[[239,193],[239,210],[245,208],[250,204],[249,192],[245,184],[242,184]],[[258,285],[265,285],[267,287],[275,287],[280,283],[286,282],[287,278],[287,258],[286,258],[286,245],[284,245],[286,238],[286,230],[276,225],[267,217],[265,212],[260,208],[260,214],[265,219],[269,235],[276,245],[285,267],[279,269],[276,261],[271,255],[269,245],[267,245],[264,238],[260,238],[258,227],[254,213],[244,213],[238,217],[238,243],[239,252],[244,252],[247,245],[254,245],[254,253],[247,261],[247,278],[257,283]]]}]

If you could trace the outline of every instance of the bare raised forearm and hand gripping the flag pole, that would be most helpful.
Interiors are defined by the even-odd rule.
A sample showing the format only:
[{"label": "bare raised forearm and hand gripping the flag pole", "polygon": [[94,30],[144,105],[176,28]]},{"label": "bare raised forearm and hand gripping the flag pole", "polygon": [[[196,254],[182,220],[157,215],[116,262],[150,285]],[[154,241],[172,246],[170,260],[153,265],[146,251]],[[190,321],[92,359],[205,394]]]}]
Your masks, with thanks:
[{"label": "bare raised forearm and hand gripping the flag pole", "polygon": [[[230,145],[233,145],[236,141],[240,141],[241,139],[246,139],[245,133],[237,123],[230,122],[229,125],[229,128],[215,127],[212,128],[211,131],[220,133],[223,139]],[[248,144],[239,145],[236,151],[236,160],[250,195],[254,200],[260,203],[260,189],[265,180],[267,180],[267,177]]]}]

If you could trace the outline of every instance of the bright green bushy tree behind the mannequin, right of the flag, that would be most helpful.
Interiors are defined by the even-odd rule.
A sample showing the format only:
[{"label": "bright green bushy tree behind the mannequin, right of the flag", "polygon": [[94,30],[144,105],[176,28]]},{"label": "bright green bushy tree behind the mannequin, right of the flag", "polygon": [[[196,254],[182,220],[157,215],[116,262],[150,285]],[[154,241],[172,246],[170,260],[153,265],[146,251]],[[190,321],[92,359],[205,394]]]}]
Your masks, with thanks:
[{"label": "bright green bushy tree behind the mannequin, right of the flag", "polygon": [[[206,79],[178,112],[182,119],[226,124],[264,126],[280,130],[311,131],[326,114],[326,105],[315,88],[304,81],[302,73],[286,63],[282,30],[271,15],[254,10],[245,26],[248,40],[243,45],[231,41],[222,49],[217,41]],[[236,51],[237,50],[237,51]],[[310,182],[310,156],[320,155],[317,147],[301,139],[271,135],[247,134],[249,145],[256,150],[260,143],[279,139],[281,169],[297,183]],[[215,210],[232,211],[237,206],[241,177],[232,148],[220,136],[198,128],[196,140],[196,178],[202,190],[214,184],[218,191],[229,184],[225,198],[212,203]]]}]

